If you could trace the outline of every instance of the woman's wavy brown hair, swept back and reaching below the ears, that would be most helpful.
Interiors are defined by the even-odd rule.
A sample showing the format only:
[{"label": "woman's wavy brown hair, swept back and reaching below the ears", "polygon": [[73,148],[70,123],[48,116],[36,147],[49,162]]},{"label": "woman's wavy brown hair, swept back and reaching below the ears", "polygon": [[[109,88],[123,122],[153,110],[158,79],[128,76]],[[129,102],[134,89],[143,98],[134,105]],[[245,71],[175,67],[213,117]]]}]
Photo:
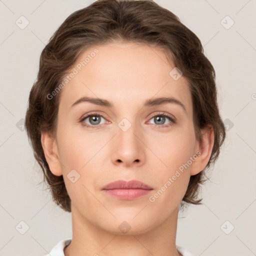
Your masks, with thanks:
[{"label": "woman's wavy brown hair, swept back and reaching below the ears", "polygon": [[215,71],[198,37],[176,15],[152,0],[97,0],[71,13],[41,52],[37,79],[29,94],[25,129],[54,202],[63,210],[71,211],[63,176],[51,173],[41,145],[42,131],[55,135],[61,91],[50,100],[47,95],[59,85],[82,51],[111,41],[161,47],[168,61],[171,60],[188,81],[196,139],[201,141],[200,129],[210,124],[214,144],[205,168],[190,176],[180,205],[184,202],[201,204],[202,198],[197,199],[197,196],[200,184],[208,179],[205,170],[215,163],[225,138],[217,105]]}]

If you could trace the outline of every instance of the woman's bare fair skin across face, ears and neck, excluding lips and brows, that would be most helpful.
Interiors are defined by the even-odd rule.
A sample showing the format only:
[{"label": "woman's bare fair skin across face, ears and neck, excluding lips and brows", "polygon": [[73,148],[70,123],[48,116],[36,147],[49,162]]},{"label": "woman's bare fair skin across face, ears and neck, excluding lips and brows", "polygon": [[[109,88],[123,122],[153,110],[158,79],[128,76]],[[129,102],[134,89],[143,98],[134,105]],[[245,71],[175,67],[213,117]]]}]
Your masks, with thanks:
[{"label": "woman's bare fair skin across face, ears and neck, excluding lips and brows", "polygon": [[[195,139],[192,98],[183,76],[174,80],[167,62],[157,47],[115,42],[91,47],[82,52],[76,63],[94,48],[99,52],[62,88],[56,137],[41,135],[46,160],[55,175],[63,175],[71,198],[72,241],[65,247],[66,256],[79,255],[180,255],[176,250],[179,204],[186,192],[190,175],[207,164],[212,146],[212,129],[204,130],[202,142]],[[113,107],[90,102],[71,105],[81,96],[104,98]],[[144,106],[152,97],[171,96],[174,103]],[[101,115],[97,128],[79,122],[86,113]],[[164,112],[159,124],[153,116]],[[96,115],[97,116],[97,115]],[[123,131],[118,123],[126,118],[131,127]],[[95,125],[89,117],[83,123]],[[153,195],[180,165],[200,151],[200,156],[158,197]],[[72,183],[67,174],[75,169],[80,178]],[[104,185],[117,179],[140,180],[153,189],[134,200],[122,200],[105,194]],[[126,221],[127,233],[118,226]],[[97,255],[95,254],[95,255]]]}]

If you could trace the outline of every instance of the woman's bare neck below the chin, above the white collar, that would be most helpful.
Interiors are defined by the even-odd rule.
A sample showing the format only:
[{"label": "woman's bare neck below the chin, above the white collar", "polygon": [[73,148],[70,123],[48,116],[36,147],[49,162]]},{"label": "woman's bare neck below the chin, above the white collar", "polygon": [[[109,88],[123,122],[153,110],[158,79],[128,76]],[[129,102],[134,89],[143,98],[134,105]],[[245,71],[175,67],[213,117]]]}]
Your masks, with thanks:
[{"label": "woman's bare neck below the chin, above the white collar", "polygon": [[[72,206],[72,241],[65,256],[180,256],[175,245],[178,207],[160,225],[146,232],[112,233],[84,219]],[[131,228],[132,229],[132,228]],[[130,230],[131,231],[131,230]]]}]

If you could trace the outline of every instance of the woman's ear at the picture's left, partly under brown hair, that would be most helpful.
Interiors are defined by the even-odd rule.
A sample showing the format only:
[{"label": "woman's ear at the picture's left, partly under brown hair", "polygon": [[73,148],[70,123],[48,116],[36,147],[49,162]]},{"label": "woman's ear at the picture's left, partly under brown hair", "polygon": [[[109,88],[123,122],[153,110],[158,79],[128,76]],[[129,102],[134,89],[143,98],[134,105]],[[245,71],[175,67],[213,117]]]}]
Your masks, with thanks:
[{"label": "woman's ear at the picture's left, partly under brown hair", "polygon": [[41,144],[52,174],[56,176],[62,175],[56,139],[48,131],[45,131],[41,133]]}]

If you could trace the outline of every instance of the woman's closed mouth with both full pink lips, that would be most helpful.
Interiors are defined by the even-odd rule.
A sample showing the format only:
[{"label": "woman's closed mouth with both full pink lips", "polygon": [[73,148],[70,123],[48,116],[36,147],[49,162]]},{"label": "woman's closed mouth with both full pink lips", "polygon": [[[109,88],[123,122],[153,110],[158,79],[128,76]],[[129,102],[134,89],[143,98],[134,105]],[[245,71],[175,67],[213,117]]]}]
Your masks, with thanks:
[{"label": "woman's closed mouth with both full pink lips", "polygon": [[139,180],[116,180],[104,186],[107,195],[126,200],[133,200],[149,193],[153,188]]}]

